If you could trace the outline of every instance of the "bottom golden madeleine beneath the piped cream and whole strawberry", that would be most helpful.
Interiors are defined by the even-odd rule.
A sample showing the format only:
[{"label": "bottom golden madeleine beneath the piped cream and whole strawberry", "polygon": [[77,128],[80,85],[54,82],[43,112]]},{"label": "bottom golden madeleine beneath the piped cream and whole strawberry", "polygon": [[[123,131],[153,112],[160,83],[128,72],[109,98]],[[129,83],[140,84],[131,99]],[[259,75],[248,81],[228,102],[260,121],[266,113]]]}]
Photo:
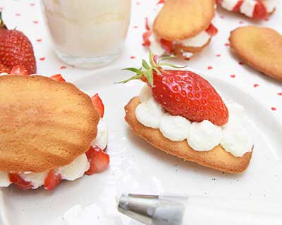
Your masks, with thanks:
[{"label": "bottom golden madeleine beneath the piped cream and whole strawberry", "polygon": [[130,129],[142,139],[145,139],[152,146],[163,150],[164,152],[175,155],[191,162],[222,172],[239,174],[247,169],[252,152],[245,153],[243,157],[235,157],[226,152],[221,146],[217,146],[209,151],[192,150],[187,141],[171,141],[166,139],[159,129],[152,129],[140,124],[135,117],[135,109],[140,104],[139,97],[132,98],[128,105],[125,106],[125,121],[130,125]]}]

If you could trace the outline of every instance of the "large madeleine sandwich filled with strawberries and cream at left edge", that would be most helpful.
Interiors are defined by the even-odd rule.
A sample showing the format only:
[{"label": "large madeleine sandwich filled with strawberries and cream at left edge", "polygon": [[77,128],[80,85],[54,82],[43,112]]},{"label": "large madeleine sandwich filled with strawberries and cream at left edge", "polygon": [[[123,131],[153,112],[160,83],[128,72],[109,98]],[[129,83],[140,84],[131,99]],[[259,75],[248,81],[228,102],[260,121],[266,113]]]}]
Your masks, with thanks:
[{"label": "large madeleine sandwich filled with strawberries and cream at left edge", "polygon": [[51,190],[109,166],[97,94],[19,67],[0,76],[0,91],[0,187]]}]

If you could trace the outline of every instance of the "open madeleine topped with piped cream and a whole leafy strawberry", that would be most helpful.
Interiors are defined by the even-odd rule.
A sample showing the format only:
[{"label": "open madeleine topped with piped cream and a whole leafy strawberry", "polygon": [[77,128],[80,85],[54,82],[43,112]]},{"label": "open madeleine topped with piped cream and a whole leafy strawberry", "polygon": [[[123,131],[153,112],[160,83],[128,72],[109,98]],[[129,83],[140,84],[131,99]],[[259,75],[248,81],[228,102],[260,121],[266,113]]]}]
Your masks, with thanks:
[{"label": "open madeleine topped with piped cream and a whole leafy strawberry", "polygon": [[[244,108],[226,104],[209,82],[185,70],[164,70],[171,63],[150,55],[131,79],[145,86],[125,106],[125,121],[152,146],[184,160],[222,172],[247,169],[253,144]],[[124,82],[128,82],[129,80]]]}]

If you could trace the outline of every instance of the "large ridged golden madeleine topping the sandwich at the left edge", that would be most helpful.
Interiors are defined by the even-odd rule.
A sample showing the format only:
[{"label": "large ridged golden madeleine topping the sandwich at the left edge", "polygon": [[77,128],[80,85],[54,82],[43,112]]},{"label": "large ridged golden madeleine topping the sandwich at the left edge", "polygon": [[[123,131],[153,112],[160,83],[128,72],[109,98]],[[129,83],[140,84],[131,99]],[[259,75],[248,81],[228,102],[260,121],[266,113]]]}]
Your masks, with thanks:
[{"label": "large ridged golden madeleine topping the sandwich at the left edge", "polygon": [[0,170],[68,165],[97,136],[99,115],[73,84],[42,76],[0,77]]}]

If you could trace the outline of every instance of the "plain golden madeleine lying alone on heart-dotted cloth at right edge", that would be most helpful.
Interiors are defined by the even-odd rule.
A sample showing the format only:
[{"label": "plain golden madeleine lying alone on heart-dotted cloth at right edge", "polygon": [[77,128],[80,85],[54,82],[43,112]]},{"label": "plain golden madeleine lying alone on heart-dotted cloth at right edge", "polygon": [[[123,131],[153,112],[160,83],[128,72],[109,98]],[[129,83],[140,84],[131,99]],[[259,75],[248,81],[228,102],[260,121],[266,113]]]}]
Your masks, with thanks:
[{"label": "plain golden madeleine lying alone on heart-dotted cloth at right edge", "polygon": [[231,49],[248,65],[282,81],[282,35],[269,27],[239,27],[229,37]]}]

